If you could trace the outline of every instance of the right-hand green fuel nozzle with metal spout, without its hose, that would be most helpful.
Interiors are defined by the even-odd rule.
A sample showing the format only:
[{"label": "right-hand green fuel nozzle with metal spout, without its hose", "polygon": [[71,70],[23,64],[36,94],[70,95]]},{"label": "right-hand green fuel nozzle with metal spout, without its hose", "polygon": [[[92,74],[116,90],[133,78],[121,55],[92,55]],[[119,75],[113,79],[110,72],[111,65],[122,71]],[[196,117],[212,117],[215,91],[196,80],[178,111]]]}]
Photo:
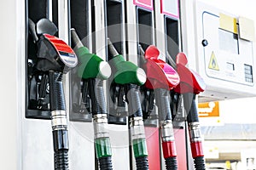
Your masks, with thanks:
[{"label": "right-hand green fuel nozzle with metal spout, without its hose", "polygon": [[109,60],[113,68],[114,82],[118,84],[137,84],[143,85],[147,78],[145,71],[133,64],[131,61],[125,61],[124,57],[119,54],[113,47],[113,43],[108,38],[109,54],[112,54],[112,59]]}]

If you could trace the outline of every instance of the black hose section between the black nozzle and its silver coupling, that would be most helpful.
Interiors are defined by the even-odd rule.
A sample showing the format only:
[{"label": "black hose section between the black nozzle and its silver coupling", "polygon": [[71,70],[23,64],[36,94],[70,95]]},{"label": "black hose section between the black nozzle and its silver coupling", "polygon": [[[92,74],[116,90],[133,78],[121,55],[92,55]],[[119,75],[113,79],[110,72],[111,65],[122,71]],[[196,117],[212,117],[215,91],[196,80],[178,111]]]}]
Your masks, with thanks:
[{"label": "black hose section between the black nozzle and its silver coupling", "polygon": [[50,111],[66,111],[62,75],[49,71]]}]

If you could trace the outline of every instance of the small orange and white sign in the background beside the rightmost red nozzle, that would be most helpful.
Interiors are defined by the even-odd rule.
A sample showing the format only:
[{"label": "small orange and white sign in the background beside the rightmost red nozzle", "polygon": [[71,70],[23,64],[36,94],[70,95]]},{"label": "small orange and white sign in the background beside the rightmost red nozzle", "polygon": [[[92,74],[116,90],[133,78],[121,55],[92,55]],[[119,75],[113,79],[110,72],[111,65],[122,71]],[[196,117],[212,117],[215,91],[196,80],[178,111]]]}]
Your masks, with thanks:
[{"label": "small orange and white sign in the background beside the rightmost red nozzle", "polygon": [[219,116],[218,101],[208,102],[208,103],[199,103],[198,113],[200,117]]}]

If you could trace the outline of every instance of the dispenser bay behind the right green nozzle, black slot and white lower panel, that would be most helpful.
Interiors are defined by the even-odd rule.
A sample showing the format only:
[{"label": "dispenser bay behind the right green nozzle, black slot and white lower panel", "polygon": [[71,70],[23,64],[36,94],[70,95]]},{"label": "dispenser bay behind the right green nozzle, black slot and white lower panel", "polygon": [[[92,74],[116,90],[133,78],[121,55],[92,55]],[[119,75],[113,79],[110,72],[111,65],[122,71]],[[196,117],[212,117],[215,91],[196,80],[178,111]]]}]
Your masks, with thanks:
[{"label": "dispenser bay behind the right green nozzle, black slot and white lower panel", "polygon": [[[126,59],[125,0],[104,0],[102,2],[104,5],[102,16],[105,31],[102,48],[106,52],[106,60],[112,63],[113,59],[113,54],[110,53],[108,48],[108,38],[113,42],[118,54]],[[115,83],[114,74],[108,79],[107,87],[108,124],[111,129],[110,137],[113,138],[113,167],[128,170],[131,168],[131,153],[129,152],[128,105],[123,99],[124,88],[119,88],[119,85]]]}]

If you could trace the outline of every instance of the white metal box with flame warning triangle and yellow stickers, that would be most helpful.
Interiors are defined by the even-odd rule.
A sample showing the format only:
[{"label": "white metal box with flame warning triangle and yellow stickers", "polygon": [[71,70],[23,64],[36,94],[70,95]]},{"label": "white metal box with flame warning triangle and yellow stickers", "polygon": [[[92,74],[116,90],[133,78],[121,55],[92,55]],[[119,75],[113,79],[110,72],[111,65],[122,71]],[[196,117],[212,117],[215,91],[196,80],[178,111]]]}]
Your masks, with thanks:
[{"label": "white metal box with flame warning triangle and yellow stickers", "polygon": [[[202,1],[181,3],[183,51],[189,58],[189,67],[194,68],[207,84],[207,89],[201,96],[208,99],[212,98],[212,100],[213,98],[236,99],[254,96],[256,92],[255,85],[245,81],[244,73],[244,64],[252,65],[253,81],[255,81],[255,59],[253,59],[252,52],[254,45],[239,39],[240,54],[232,54],[219,47],[224,43],[218,40],[220,34],[218,32],[219,23],[214,15],[218,16],[219,13],[229,14],[229,11],[214,8],[202,3]],[[210,40],[207,47],[204,48],[202,40],[207,38],[210,38]],[[230,44],[228,43],[228,45]],[[212,51],[218,57],[218,66],[221,67],[221,71],[209,68]],[[231,65],[228,63],[231,63]],[[228,69],[232,64],[235,65],[235,71]]]}]

